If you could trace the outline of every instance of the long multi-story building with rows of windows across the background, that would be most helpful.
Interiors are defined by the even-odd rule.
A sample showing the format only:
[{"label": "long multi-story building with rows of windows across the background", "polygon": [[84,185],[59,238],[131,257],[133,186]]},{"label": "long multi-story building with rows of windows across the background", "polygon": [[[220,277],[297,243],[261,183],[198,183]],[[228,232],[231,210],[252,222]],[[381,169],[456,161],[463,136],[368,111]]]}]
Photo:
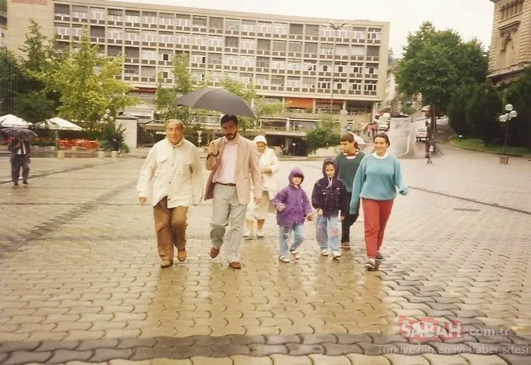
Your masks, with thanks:
[{"label": "long multi-story building with rows of windows across the background", "polygon": [[[289,111],[271,125],[294,131],[322,112],[342,123],[371,120],[383,100],[389,24],[369,20],[300,18],[102,0],[8,0],[9,47],[25,40],[30,18],[58,47],[70,47],[88,27],[101,54],[124,55],[122,78],[153,101],[157,80],[173,83],[172,58],[186,52],[198,80],[209,74],[253,83],[259,95]],[[332,85],[333,84],[333,85]],[[137,110],[138,112],[138,110]],[[133,112],[134,114],[134,112]]]}]

